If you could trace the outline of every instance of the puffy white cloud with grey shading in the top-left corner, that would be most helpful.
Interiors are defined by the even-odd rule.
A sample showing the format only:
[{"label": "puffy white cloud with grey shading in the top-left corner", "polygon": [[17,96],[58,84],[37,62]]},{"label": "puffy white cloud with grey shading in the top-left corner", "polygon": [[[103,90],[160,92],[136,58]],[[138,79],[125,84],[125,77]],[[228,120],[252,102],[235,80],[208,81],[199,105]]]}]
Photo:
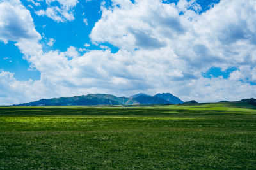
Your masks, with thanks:
[{"label": "puffy white cloud with grey shading in the top-left corner", "polygon": [[[4,43],[15,41],[26,59],[40,56],[42,45],[38,42],[42,37],[36,31],[29,10],[20,1],[2,1],[0,3],[0,39]],[[34,57],[36,58],[36,57]],[[33,65],[33,60],[29,60]]]}]

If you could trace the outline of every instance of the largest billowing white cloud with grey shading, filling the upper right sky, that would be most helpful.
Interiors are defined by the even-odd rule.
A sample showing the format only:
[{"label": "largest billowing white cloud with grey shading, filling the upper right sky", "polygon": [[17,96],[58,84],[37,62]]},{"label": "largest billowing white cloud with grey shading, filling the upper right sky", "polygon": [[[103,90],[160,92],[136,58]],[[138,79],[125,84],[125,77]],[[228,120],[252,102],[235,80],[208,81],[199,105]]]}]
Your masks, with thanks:
[{"label": "largest billowing white cloud with grey shading, filling the upper right sky", "polygon": [[[120,8],[115,6],[108,10],[102,7],[102,18],[95,24],[90,38],[96,43],[109,42],[121,50],[154,50],[170,46],[194,69],[255,65],[252,41],[256,20],[248,13],[248,9],[255,13],[250,7],[253,5],[254,1],[223,0],[202,15],[184,10],[184,7],[184,15],[178,15],[179,8],[174,4],[122,1]],[[191,17],[195,20],[189,20]]]}]

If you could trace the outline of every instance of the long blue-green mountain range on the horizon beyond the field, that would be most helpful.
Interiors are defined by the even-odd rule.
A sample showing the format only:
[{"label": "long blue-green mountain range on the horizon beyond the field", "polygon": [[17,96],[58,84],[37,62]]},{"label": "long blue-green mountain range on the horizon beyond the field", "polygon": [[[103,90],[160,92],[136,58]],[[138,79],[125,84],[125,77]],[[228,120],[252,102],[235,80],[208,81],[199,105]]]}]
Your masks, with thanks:
[{"label": "long blue-green mountain range on the horizon beyond the field", "polygon": [[170,93],[135,94],[130,97],[116,97],[111,94],[87,94],[74,97],[40,99],[15,106],[79,106],[79,105],[127,105],[127,104],[182,104],[183,101]]}]

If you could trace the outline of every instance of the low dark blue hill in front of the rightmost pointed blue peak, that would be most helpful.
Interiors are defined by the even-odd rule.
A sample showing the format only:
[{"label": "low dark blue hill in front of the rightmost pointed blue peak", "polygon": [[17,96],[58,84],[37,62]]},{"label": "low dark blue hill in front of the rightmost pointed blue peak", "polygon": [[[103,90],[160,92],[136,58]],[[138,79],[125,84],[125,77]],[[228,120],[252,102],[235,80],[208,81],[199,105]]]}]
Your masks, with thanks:
[{"label": "low dark blue hill in front of the rightmost pointed blue peak", "polygon": [[166,101],[156,96],[140,95],[134,98],[134,100],[138,101],[140,104],[173,104],[170,101]]}]

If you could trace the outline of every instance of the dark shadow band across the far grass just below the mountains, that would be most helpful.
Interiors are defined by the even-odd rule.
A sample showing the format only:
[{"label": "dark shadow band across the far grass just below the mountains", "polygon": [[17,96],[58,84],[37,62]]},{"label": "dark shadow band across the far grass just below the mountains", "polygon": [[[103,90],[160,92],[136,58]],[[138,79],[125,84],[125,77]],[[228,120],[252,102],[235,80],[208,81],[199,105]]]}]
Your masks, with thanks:
[{"label": "dark shadow band across the far grass just below the mountains", "polygon": [[147,108],[0,108],[0,116],[40,116],[40,115],[88,115],[88,116],[149,116],[149,117],[175,117],[175,116],[238,116],[252,115],[241,111],[221,110],[186,110],[186,109],[147,109]]}]

